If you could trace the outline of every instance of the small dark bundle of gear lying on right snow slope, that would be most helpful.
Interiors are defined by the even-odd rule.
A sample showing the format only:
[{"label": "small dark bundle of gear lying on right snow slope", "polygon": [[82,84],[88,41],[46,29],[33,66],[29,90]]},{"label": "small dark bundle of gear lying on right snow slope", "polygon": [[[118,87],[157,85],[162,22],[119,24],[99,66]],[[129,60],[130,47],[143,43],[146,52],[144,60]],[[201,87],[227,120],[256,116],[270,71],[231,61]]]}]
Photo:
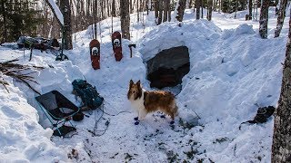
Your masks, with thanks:
[{"label": "small dark bundle of gear lying on right snow slope", "polygon": [[[244,123],[265,123],[266,120],[271,117],[273,115],[275,111],[275,107],[274,106],[268,106],[268,107],[259,107],[256,111],[256,116],[254,118],[254,120],[247,120],[245,122],[242,122],[241,124]],[[239,126],[240,129],[240,126]]]}]

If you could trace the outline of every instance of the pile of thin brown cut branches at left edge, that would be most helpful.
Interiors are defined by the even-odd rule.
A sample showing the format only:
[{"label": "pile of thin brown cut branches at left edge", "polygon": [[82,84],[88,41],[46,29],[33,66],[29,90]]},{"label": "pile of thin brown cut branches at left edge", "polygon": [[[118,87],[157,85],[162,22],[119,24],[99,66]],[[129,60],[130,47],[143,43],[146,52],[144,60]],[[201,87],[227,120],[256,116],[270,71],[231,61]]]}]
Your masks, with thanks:
[{"label": "pile of thin brown cut branches at left edge", "polygon": [[[17,81],[24,82],[28,88],[30,88],[32,91],[35,91],[37,94],[40,95],[40,93],[38,91],[36,91],[29,84],[29,82],[35,82],[34,81],[35,78],[32,76],[29,76],[29,75],[32,73],[35,73],[37,70],[43,70],[43,69],[45,69],[45,67],[22,65],[22,64],[14,63],[16,61],[18,61],[18,60],[0,62],[0,72],[2,72],[3,74],[5,74],[7,76],[14,78]],[[32,72],[24,73],[23,71],[32,71]],[[0,81],[0,83],[2,85],[4,85],[6,91],[8,91],[8,89],[5,86],[5,85],[8,85],[8,82]],[[38,84],[38,82],[35,82],[35,83]]]}]

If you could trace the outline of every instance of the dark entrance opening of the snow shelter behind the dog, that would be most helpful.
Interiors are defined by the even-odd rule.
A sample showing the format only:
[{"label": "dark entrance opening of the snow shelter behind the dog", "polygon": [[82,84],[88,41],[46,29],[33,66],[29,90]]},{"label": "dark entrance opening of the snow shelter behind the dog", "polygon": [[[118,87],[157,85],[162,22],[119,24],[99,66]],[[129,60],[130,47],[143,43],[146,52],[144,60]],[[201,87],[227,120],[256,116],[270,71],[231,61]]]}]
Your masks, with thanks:
[{"label": "dark entrance opening of the snow shelter behind the dog", "polygon": [[147,62],[147,80],[151,87],[162,89],[182,83],[190,71],[189,52],[186,46],[163,50]]}]

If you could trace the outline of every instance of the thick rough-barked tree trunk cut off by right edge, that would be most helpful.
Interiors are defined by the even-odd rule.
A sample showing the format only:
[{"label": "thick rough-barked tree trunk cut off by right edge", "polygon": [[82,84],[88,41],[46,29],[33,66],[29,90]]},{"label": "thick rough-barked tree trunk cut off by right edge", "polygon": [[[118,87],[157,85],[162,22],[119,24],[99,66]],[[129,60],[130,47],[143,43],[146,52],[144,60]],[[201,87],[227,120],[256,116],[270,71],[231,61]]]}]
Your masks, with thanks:
[{"label": "thick rough-barked tree trunk cut off by right edge", "polygon": [[[290,12],[291,13],[291,12]],[[272,163],[291,162],[291,19],[278,107],[275,112]]]}]

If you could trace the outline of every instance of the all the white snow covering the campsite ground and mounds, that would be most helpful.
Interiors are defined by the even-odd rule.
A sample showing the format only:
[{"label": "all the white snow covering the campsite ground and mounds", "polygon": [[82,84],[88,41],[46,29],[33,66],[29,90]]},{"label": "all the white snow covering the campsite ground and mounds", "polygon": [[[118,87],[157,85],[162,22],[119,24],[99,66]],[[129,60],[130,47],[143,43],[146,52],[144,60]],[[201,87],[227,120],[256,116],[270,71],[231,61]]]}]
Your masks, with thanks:
[{"label": "all the white snow covering the campsite ground and mounds", "polygon": [[[93,70],[89,58],[91,27],[75,34],[74,49],[65,51],[70,59],[55,62],[51,52],[29,52],[0,46],[1,62],[44,66],[34,74],[34,88],[41,93],[57,90],[76,105],[71,93],[75,79],[93,84],[105,98],[105,113],[85,112],[89,117],[73,122],[77,133],[70,138],[52,137],[49,121],[39,109],[35,94],[10,77],[8,90],[0,85],[0,160],[21,162],[270,162],[273,117],[263,124],[242,125],[252,120],[257,106],[276,106],[282,64],[286,51],[287,20],[282,34],[273,38],[276,17],[270,12],[269,39],[258,35],[258,22],[237,19],[231,14],[214,13],[213,22],[196,21],[193,10],[186,10],[186,21],[155,26],[151,13],[144,23],[132,23],[132,40],[137,43],[130,58],[128,40],[122,40],[124,58],[115,62],[107,22],[101,22],[101,69]],[[206,12],[205,12],[206,13]],[[131,15],[135,19],[135,14]],[[286,16],[287,17],[287,16]],[[287,18],[286,18],[287,19]],[[274,23],[274,24],[273,24]],[[114,19],[115,29],[120,22]],[[10,43],[7,43],[8,45]],[[140,80],[146,90],[146,61],[164,49],[186,45],[190,72],[183,78],[176,96],[179,116],[175,126],[169,117],[148,114],[139,125],[126,99],[128,83]],[[198,120],[196,113],[201,118]],[[110,115],[109,115],[110,114]],[[114,116],[113,116],[114,115]],[[103,116],[103,118],[101,118]],[[100,120],[99,120],[100,119]],[[97,129],[95,135],[88,130]],[[105,130],[105,131],[104,131]],[[78,152],[68,158],[72,149]]]}]

